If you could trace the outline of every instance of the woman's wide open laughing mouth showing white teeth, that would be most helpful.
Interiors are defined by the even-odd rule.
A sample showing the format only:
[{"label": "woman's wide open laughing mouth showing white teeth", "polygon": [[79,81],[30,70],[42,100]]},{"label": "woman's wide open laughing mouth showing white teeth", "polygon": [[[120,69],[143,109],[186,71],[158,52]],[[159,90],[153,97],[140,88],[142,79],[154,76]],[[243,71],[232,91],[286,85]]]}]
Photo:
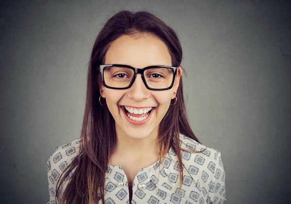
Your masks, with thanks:
[{"label": "woman's wide open laughing mouth showing white teeth", "polygon": [[120,106],[126,116],[126,118],[131,123],[135,124],[143,124],[145,123],[152,111],[155,109],[155,107],[148,107],[148,108],[132,108],[129,106]]}]

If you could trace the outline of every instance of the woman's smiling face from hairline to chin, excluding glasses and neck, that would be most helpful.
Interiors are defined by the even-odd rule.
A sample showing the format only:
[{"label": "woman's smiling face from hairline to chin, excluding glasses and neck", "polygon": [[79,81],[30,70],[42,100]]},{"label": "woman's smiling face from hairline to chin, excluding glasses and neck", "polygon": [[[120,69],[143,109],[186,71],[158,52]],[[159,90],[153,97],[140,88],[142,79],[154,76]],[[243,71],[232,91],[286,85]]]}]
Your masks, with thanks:
[{"label": "woman's smiling face from hairline to chin, excluding glasses and neck", "polygon": [[[150,34],[140,35],[138,38],[129,35],[120,36],[113,41],[107,51],[105,64],[129,65],[135,68],[151,65],[172,66],[166,45]],[[136,75],[134,83],[128,89],[116,90],[100,86],[100,94],[106,98],[108,109],[115,120],[117,134],[139,139],[150,135],[157,136],[159,124],[170,106],[171,99],[175,98],[173,92],[177,93],[181,72],[182,69],[179,67],[174,85],[169,90],[147,89],[141,74]],[[101,93],[101,90],[104,92]],[[133,113],[129,113],[125,107]],[[146,111],[150,108],[148,114]],[[134,109],[136,109],[135,112]],[[141,111],[144,114],[140,114]],[[146,119],[136,121],[136,119],[130,119],[128,114],[139,118],[146,117]]]}]

